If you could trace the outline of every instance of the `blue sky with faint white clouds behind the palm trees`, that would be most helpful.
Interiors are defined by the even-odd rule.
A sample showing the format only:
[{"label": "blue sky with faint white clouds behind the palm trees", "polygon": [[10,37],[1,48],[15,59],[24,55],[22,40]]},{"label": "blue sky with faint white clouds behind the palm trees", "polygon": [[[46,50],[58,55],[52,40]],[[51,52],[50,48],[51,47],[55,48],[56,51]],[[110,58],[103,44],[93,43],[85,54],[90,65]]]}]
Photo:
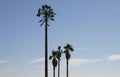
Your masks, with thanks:
[{"label": "blue sky with faint white clouds behind the palm trees", "polygon": [[[120,77],[119,0],[0,0],[0,77],[44,77],[43,4],[56,12],[49,54],[72,44],[70,77]],[[64,55],[61,77],[65,77]],[[49,77],[52,65],[49,61]]]}]

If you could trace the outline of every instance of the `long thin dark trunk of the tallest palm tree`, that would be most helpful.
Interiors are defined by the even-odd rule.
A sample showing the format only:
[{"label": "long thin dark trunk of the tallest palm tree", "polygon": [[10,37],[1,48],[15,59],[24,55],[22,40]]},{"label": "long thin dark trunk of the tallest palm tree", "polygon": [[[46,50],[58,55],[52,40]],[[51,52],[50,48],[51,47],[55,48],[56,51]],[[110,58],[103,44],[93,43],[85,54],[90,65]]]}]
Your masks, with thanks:
[{"label": "long thin dark trunk of the tallest palm tree", "polygon": [[47,27],[48,27],[47,14],[45,15],[45,77],[48,77],[48,37],[47,37]]}]

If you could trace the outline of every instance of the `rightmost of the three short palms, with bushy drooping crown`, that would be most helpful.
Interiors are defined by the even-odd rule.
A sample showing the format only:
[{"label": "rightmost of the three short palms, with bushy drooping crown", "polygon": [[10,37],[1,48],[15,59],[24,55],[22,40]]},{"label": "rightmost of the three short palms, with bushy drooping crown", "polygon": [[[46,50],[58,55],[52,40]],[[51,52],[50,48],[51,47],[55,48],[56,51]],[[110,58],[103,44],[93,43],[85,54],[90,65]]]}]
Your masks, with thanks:
[{"label": "rightmost of the three short palms, with bushy drooping crown", "polygon": [[70,44],[67,44],[66,46],[64,46],[64,53],[65,53],[65,57],[66,57],[66,77],[68,77],[68,61],[70,60],[70,52],[74,51],[73,47]]}]

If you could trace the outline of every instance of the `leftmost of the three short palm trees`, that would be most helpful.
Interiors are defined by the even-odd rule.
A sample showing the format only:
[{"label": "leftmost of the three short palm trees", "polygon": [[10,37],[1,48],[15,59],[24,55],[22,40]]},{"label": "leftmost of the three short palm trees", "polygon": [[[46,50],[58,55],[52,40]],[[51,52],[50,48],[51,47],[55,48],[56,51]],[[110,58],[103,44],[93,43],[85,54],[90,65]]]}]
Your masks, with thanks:
[{"label": "leftmost of the three short palm trees", "polygon": [[52,56],[49,57],[49,59],[52,59],[52,65],[53,65],[53,77],[55,77],[55,68],[57,66],[57,52],[56,51],[52,51]]}]

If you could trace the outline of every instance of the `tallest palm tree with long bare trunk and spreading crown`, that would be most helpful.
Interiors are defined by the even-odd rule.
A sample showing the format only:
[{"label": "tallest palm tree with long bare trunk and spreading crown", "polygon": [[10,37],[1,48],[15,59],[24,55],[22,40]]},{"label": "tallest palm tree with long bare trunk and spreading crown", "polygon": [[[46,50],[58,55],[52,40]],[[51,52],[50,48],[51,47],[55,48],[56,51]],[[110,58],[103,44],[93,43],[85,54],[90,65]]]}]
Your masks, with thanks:
[{"label": "tallest palm tree with long bare trunk and spreading crown", "polygon": [[40,26],[45,23],[45,77],[48,77],[48,21],[54,21],[55,15],[53,9],[48,5],[42,5],[42,8],[39,8],[37,13],[37,16],[42,18],[39,20]]}]

